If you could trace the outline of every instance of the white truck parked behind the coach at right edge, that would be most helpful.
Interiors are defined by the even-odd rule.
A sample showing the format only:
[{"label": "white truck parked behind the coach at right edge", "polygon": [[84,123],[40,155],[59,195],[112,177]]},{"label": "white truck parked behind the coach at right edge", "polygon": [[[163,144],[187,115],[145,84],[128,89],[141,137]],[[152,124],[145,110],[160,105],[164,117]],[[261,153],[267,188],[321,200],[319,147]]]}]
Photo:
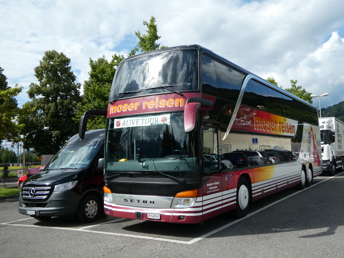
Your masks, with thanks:
[{"label": "white truck parked behind the coach at right edge", "polygon": [[319,118],[323,171],[333,175],[344,168],[344,123],[335,117]]}]

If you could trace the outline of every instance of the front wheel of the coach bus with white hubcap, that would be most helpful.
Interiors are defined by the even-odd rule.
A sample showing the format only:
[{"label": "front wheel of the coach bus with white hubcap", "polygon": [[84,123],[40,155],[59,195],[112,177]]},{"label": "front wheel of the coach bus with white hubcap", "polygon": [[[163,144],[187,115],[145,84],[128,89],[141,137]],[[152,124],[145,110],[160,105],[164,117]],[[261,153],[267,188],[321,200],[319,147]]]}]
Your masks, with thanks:
[{"label": "front wheel of the coach bus with white hubcap", "polygon": [[235,214],[238,218],[245,217],[251,203],[250,187],[247,180],[241,176],[238,180]]}]

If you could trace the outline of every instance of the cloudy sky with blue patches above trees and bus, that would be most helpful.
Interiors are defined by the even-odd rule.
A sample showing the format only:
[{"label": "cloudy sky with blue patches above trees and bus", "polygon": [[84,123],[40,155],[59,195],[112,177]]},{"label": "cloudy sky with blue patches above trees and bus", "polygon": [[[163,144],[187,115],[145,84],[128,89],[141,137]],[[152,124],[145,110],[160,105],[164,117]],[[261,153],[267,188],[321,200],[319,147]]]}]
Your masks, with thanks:
[{"label": "cloudy sky with blue patches above trees and bus", "polygon": [[322,107],[344,100],[343,0],[0,0],[0,66],[9,86],[24,87],[19,106],[45,51],[69,57],[83,84],[89,57],[127,56],[152,15],[161,45],[202,45],[283,88],[297,79],[330,94]]}]

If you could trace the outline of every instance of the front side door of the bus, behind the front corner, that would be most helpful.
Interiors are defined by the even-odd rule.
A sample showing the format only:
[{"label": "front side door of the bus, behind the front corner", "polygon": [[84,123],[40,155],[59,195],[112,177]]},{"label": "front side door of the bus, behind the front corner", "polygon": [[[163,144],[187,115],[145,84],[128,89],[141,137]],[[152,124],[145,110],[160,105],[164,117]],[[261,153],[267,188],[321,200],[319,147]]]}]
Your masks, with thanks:
[{"label": "front side door of the bus, behind the front corner", "polygon": [[202,125],[201,165],[203,219],[220,214],[222,208],[221,160],[218,158],[219,127],[207,123]]}]

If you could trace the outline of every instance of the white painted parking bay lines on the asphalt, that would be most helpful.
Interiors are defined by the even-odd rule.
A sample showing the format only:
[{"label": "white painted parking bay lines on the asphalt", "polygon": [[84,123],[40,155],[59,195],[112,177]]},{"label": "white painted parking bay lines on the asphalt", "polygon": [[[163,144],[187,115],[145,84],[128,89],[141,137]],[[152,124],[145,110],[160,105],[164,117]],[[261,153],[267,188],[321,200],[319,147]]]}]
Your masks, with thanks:
[{"label": "white painted parking bay lines on the asphalt", "polygon": [[[339,176],[339,175],[341,175],[343,173],[344,172],[342,172],[340,174],[337,174],[335,176]],[[307,187],[307,188],[305,188],[305,189],[303,189],[301,191],[298,191],[298,192],[295,192],[293,194],[290,194],[290,195],[282,198],[281,200],[278,200],[276,202],[270,203],[269,205],[267,205],[267,206],[265,206],[263,208],[260,208],[257,211],[252,212],[252,213],[246,215],[246,217],[244,217],[244,218],[237,219],[236,221],[230,222],[230,223],[228,223],[228,224],[226,224],[226,225],[224,225],[222,227],[214,229],[213,231],[211,231],[211,232],[209,232],[207,234],[204,234],[204,235],[202,235],[200,237],[194,238],[194,239],[192,239],[190,241],[180,241],[180,240],[166,239],[166,238],[159,238],[159,237],[137,236],[137,235],[130,235],[130,234],[119,234],[119,233],[103,232],[103,231],[87,230],[87,229],[85,229],[85,228],[95,227],[95,226],[98,226],[98,225],[109,224],[109,223],[114,222],[114,221],[119,221],[121,218],[120,219],[116,219],[114,221],[99,223],[99,224],[96,224],[96,225],[86,226],[86,227],[82,227],[82,228],[64,228],[64,227],[47,227],[47,226],[37,226],[37,225],[13,224],[15,222],[24,221],[26,219],[31,219],[31,217],[30,218],[25,218],[25,219],[19,219],[18,221],[11,221],[11,222],[6,222],[6,223],[0,223],[0,225],[19,226],[19,227],[53,228],[53,229],[72,230],[72,231],[78,231],[78,232],[89,232],[89,233],[105,234],[105,235],[113,235],[113,236],[125,236],[125,237],[134,237],[134,238],[143,238],[143,239],[151,239],[151,240],[159,240],[159,241],[165,241],[165,242],[172,242],[172,243],[191,245],[191,244],[194,244],[197,241],[200,241],[200,240],[202,240],[202,239],[204,239],[204,238],[206,238],[208,236],[211,236],[211,235],[213,235],[213,234],[215,234],[215,233],[217,233],[217,232],[219,232],[219,231],[221,231],[221,230],[223,230],[223,229],[225,229],[227,227],[230,227],[230,226],[232,226],[232,225],[234,225],[234,224],[236,224],[236,223],[238,223],[238,222],[240,222],[240,221],[242,221],[242,220],[244,220],[246,218],[249,218],[250,216],[257,214],[258,212],[264,211],[265,209],[271,207],[272,205],[275,205],[275,204],[277,204],[277,203],[279,203],[281,201],[284,201],[284,200],[288,199],[289,197],[294,196],[295,194],[301,193],[304,190],[310,189],[311,187],[313,187],[315,185],[318,185],[318,184],[323,183],[323,182],[325,182],[325,181],[327,181],[329,179],[332,179],[335,176],[331,176],[331,177],[329,177],[327,179],[324,179],[324,180],[320,181],[319,183],[313,184],[313,185],[311,185],[311,186],[309,186],[309,187]]]}]

